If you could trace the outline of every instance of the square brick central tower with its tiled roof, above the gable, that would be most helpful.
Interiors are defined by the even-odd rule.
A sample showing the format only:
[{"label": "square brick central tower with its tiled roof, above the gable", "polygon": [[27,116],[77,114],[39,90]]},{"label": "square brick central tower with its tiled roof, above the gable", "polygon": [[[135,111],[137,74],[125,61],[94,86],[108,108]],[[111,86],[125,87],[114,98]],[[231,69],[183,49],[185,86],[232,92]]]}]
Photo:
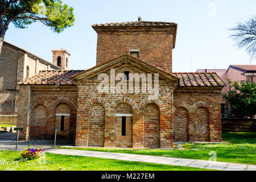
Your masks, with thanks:
[{"label": "square brick central tower with its tiled roof, above the gable", "polygon": [[129,54],[156,68],[172,72],[177,24],[137,22],[93,24],[98,34],[96,65]]}]

